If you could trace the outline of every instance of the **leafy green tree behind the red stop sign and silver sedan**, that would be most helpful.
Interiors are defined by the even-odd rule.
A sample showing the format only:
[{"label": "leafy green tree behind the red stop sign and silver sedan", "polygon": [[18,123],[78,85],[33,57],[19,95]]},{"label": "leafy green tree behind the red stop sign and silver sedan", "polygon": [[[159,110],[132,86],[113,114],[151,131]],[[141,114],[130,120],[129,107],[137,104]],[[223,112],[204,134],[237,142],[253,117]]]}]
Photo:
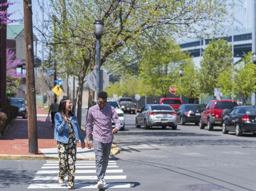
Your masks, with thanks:
[{"label": "leafy green tree behind the red stop sign and silver sedan", "polygon": [[160,45],[149,47],[145,51],[139,66],[140,77],[145,85],[155,90],[155,96],[166,97],[169,86],[179,84],[178,70],[188,67],[193,61],[188,52],[183,52],[174,39],[158,39],[158,44]]}]

